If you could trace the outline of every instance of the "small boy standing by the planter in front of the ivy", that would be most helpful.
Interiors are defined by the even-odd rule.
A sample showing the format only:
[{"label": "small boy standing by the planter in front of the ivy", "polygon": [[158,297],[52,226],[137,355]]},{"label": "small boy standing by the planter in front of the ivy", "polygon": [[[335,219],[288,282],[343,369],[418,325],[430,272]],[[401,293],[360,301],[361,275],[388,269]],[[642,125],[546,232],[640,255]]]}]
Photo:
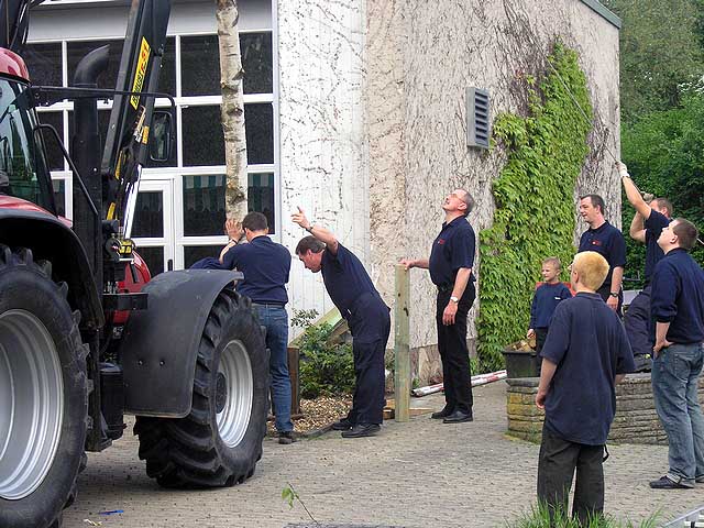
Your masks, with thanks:
[{"label": "small boy standing by the planter in front of the ivy", "polygon": [[538,286],[536,295],[532,298],[532,304],[530,305],[530,328],[527,333],[528,338],[535,336],[536,351],[538,353],[540,353],[546,342],[550,320],[558,304],[563,299],[572,297],[570,288],[560,282],[561,268],[562,264],[557,256],[550,256],[542,261],[542,270],[540,273],[544,283]]}]

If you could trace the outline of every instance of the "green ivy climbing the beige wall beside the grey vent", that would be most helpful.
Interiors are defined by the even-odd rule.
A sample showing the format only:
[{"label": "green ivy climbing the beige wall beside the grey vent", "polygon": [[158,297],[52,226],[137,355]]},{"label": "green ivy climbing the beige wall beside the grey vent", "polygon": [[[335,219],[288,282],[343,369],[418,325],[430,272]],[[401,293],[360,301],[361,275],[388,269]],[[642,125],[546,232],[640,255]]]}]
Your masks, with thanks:
[{"label": "green ivy climbing the beige wall beside the grey vent", "polygon": [[504,348],[528,330],[542,260],[560,257],[566,279],[574,254],[573,193],[588,153],[592,105],[576,53],[557,43],[548,59],[552,67],[540,82],[525,79],[528,117],[503,113],[494,123],[507,162],[493,183],[494,223],[480,233],[477,352],[490,371],[501,367]]}]

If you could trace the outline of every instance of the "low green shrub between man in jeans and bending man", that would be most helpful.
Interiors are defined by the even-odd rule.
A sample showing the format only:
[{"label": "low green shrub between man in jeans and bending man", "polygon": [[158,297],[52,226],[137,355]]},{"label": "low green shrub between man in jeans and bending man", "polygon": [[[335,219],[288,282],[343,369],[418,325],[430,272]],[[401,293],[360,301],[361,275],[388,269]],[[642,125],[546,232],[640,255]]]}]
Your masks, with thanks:
[{"label": "low green shrub between man in jeans and bending man", "polygon": [[314,324],[316,310],[294,310],[292,322],[304,328],[299,338],[300,395],[306,399],[318,396],[350,394],[354,388],[352,346],[333,343],[332,327]]}]

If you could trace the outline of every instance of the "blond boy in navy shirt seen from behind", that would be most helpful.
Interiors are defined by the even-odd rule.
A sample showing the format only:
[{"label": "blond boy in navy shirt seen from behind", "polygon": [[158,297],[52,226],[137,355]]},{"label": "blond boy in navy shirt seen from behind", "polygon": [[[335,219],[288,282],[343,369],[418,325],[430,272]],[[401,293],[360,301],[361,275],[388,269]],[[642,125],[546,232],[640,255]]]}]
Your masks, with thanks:
[{"label": "blond boy in navy shirt seen from behind", "polygon": [[578,253],[570,266],[576,295],[554,310],[542,348],[536,405],[546,421],[538,459],[538,499],[551,515],[566,513],[575,469],[572,516],[586,525],[604,510],[604,444],[616,413],[615,384],[632,372],[628,338],[618,316],[596,293],[608,274],[596,252]]}]

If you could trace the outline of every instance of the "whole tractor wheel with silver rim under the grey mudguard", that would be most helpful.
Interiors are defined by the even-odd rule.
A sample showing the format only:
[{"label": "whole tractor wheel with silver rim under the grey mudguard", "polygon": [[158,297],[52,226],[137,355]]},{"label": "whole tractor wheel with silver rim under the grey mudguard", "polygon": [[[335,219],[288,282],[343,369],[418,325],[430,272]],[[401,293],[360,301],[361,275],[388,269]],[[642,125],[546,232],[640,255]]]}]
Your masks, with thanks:
[{"label": "whole tractor wheel with silver rim under the grey mudguard", "polygon": [[195,365],[193,407],[180,419],[138,416],[140,459],[164,487],[239,484],[262,458],[268,411],[268,352],[248,299],[221,292]]}]

